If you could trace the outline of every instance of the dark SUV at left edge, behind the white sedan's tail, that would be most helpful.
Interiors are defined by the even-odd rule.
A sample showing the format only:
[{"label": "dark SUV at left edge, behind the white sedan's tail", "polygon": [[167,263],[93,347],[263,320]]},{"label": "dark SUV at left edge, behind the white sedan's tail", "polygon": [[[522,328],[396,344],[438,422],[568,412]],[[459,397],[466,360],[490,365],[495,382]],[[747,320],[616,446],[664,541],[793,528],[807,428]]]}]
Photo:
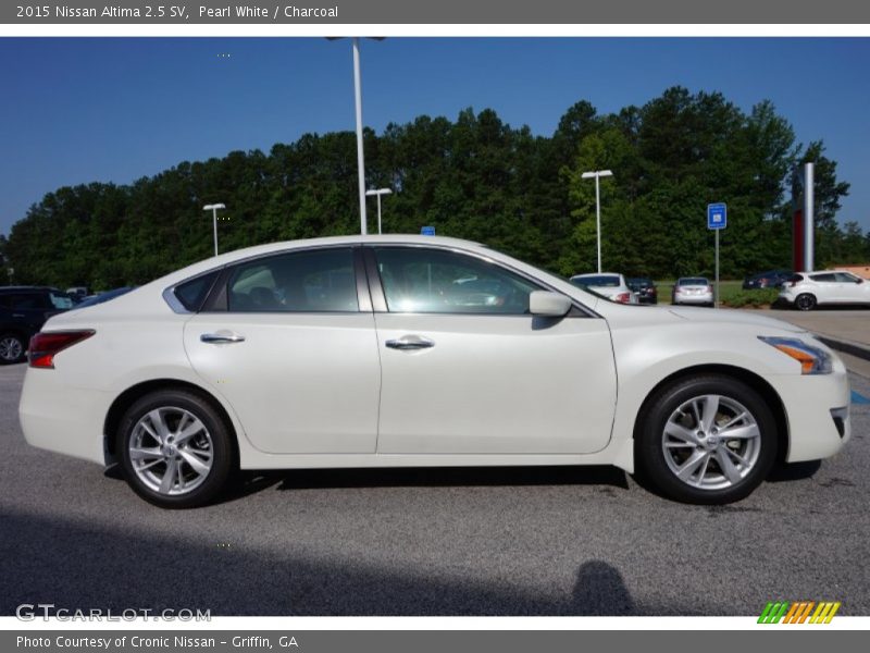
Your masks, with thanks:
[{"label": "dark SUV at left edge, behind the white sedan's tail", "polygon": [[72,296],[49,286],[0,287],[0,365],[24,360],[30,337],[51,316],[73,308]]}]

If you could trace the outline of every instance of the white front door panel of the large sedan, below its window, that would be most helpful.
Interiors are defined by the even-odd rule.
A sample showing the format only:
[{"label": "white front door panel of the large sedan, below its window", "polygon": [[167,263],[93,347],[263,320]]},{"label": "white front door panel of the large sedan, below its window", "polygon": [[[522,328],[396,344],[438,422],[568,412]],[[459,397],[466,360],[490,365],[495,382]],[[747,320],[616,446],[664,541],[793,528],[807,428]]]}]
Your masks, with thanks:
[{"label": "white front door panel of the large sedan, below its window", "polygon": [[[378,452],[582,454],[607,445],[617,379],[602,319],[540,320],[538,328],[531,316],[377,313],[375,320]],[[384,346],[407,335],[435,345]]]}]

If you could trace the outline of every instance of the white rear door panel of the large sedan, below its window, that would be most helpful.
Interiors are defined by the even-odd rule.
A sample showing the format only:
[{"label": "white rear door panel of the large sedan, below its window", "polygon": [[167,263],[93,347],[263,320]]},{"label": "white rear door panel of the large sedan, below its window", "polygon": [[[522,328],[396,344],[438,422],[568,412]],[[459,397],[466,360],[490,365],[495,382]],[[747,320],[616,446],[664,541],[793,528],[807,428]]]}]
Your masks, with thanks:
[{"label": "white rear door panel of the large sedan, below its window", "polygon": [[[240,343],[208,344],[233,332]],[[184,343],[201,382],[269,454],[373,454],[381,370],[372,313],[192,316]]]}]

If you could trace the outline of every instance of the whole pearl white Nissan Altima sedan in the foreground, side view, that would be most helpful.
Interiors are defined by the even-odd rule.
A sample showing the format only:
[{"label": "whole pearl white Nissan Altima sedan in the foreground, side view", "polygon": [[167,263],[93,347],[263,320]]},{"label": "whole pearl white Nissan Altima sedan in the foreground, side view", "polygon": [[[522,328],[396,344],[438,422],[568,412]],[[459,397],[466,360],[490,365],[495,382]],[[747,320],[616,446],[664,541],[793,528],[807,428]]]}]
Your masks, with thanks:
[{"label": "whole pearl white Nissan Altima sedan in the foreground, side view", "polygon": [[51,318],[27,441],[164,507],[234,468],[616,465],[684,502],[739,500],[849,438],[841,360],[732,310],[610,303],[432,236],[266,245]]}]

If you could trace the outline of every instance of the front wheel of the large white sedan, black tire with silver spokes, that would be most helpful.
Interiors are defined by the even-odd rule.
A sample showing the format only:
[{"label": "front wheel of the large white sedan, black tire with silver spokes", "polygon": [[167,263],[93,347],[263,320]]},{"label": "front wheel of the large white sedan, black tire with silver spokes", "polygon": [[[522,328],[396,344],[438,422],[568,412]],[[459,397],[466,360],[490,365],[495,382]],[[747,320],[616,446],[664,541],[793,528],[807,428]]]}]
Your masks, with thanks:
[{"label": "front wheel of the large white sedan, black tire with silver spokes", "polygon": [[[703,436],[703,443],[685,444],[682,438],[666,434],[666,427],[685,428],[686,432],[694,433],[693,438],[698,438],[703,426],[692,410],[680,409],[692,404],[693,399],[708,396],[718,399],[710,421],[712,428]],[[699,408],[703,417],[704,406]],[[724,422],[742,410],[748,412],[748,418],[736,421],[732,430],[719,431],[719,427],[724,428]],[[776,459],[776,422],[770,408],[755,390],[730,377],[699,375],[670,383],[649,397],[639,419],[635,464],[641,478],[663,495],[682,503],[720,505],[739,501],[767,478]],[[755,427],[758,434],[742,439],[722,435],[736,435],[736,429],[741,427],[745,427],[745,432],[754,432]],[[667,453],[666,443],[673,446],[667,448]],[[703,461],[705,455],[707,463]],[[685,458],[681,459],[681,456]],[[724,458],[724,465],[720,463],[720,456]],[[751,464],[735,464],[737,457]],[[687,481],[681,480],[678,470],[691,472],[692,460],[699,460],[695,468],[698,478],[693,479],[689,475]],[[729,478],[725,470],[729,461],[733,478]]]}]

